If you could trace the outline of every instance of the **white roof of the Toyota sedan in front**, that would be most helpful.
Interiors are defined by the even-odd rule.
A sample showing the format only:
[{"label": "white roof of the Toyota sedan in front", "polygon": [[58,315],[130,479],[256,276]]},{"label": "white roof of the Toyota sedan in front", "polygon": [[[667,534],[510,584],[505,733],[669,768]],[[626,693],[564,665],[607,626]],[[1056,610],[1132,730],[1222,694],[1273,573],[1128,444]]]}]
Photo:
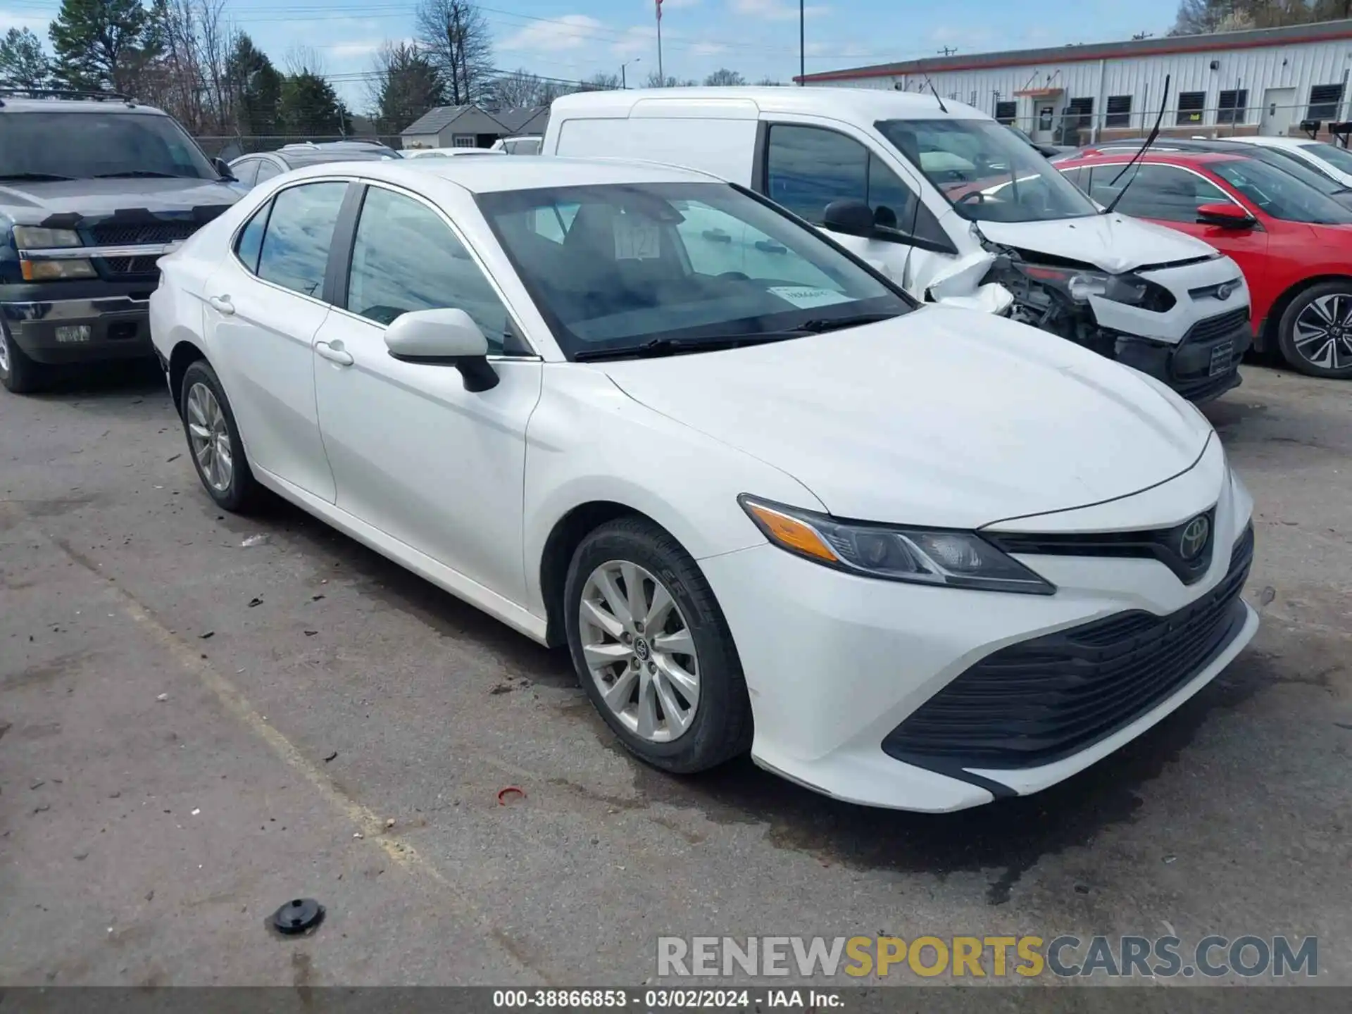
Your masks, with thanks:
[{"label": "white roof of the Toyota sedan in front", "polygon": [[[343,160],[353,162],[353,160]],[[301,176],[326,176],[334,165],[299,169]],[[626,183],[722,183],[717,176],[679,169],[660,162],[619,158],[554,158],[514,155],[511,158],[372,158],[353,165],[353,173],[368,180],[426,188],[429,177],[456,184],[470,193],[531,191],[545,187],[587,187]]]}]

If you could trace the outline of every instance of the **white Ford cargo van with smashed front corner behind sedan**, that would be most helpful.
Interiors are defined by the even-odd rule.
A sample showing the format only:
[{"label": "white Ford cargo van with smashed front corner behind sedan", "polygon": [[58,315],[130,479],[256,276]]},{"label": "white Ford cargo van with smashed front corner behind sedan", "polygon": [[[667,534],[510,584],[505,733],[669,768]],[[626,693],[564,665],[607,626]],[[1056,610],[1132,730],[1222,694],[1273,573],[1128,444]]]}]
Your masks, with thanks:
[{"label": "white Ford cargo van with smashed front corner behind sedan", "polygon": [[[823,228],[922,300],[1009,314],[1194,402],[1240,383],[1252,333],[1234,261],[1102,214],[971,105],[852,88],[584,92],[554,101],[541,153],[711,172]],[[703,237],[726,247],[730,270],[773,257],[764,238],[717,222]]]}]

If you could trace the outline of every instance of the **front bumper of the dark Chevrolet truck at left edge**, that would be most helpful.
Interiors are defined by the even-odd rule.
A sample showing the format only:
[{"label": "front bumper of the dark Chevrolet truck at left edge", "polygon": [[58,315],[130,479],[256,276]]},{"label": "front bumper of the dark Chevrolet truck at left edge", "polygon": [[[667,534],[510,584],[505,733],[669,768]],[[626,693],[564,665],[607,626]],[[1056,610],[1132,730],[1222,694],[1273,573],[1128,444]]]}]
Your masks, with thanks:
[{"label": "front bumper of the dark Chevrolet truck at left edge", "polygon": [[[153,285],[151,285],[153,287]],[[150,292],[146,284],[91,283],[58,293],[50,285],[0,288],[0,320],[23,353],[35,362],[70,364],[141,358],[150,345]],[[88,337],[70,339],[73,326]]]}]

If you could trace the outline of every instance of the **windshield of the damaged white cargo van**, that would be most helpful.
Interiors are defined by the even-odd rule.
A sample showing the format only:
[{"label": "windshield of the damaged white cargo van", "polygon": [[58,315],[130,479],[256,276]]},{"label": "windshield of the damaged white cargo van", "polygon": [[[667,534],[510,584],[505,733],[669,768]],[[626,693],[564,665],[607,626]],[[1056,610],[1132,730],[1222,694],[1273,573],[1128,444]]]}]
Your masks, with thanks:
[{"label": "windshield of the damaged white cargo van", "polygon": [[1069,180],[995,120],[882,120],[892,146],[973,222],[1046,222],[1098,214]]}]

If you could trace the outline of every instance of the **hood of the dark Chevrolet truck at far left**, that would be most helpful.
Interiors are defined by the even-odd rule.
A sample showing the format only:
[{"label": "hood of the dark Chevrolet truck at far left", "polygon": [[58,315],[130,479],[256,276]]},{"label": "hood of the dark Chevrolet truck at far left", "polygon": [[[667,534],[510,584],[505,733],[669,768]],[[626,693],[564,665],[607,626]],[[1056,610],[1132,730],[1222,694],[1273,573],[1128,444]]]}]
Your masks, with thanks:
[{"label": "hood of the dark Chevrolet truck at far left", "polygon": [[218,180],[58,180],[0,184],[0,210],[16,222],[41,224],[47,215],[95,218],[116,211],[191,212],[234,204],[239,192]]}]

